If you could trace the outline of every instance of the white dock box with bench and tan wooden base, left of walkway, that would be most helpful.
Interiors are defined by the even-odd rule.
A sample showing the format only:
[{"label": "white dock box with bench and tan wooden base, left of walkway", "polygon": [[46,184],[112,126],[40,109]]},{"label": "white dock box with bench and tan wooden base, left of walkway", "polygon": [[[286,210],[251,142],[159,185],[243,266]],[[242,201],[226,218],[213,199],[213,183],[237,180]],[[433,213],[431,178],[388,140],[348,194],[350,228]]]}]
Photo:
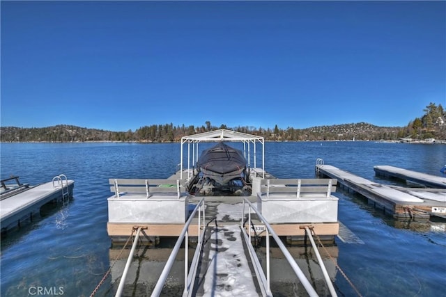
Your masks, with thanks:
[{"label": "white dock box with bench and tan wooden base, left of walkway", "polygon": [[107,199],[109,236],[128,236],[135,226],[144,227],[145,237],[180,234],[189,196],[179,179],[109,179],[109,184],[114,193]]}]

